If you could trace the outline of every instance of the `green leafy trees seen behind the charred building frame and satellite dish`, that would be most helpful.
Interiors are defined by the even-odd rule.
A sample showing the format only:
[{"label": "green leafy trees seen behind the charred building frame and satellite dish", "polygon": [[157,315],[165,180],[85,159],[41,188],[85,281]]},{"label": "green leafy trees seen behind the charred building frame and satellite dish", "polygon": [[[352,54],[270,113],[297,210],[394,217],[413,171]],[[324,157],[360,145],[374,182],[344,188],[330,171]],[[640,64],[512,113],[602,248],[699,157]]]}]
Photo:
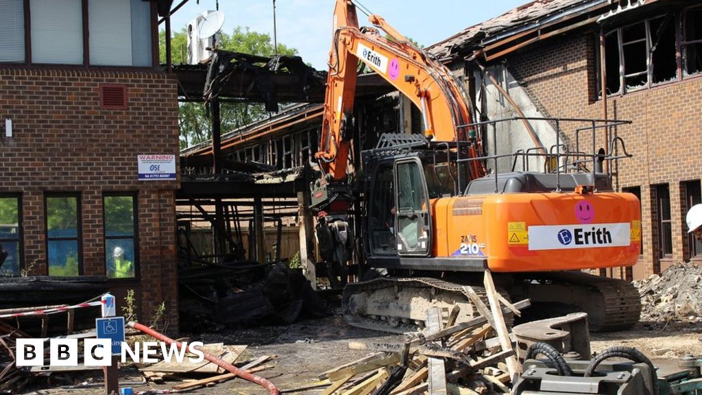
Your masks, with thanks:
[{"label": "green leafy trees seen behind the charred building frame and satellite dish", "polygon": [[[161,63],[166,63],[166,33],[159,33]],[[270,35],[252,32],[249,27],[235,27],[231,34],[222,33],[220,48],[227,51],[250,53],[258,56],[273,56],[275,48]],[[185,27],[171,38],[173,64],[187,61],[187,35]],[[279,55],[297,55],[295,48],[278,44]],[[226,133],[267,116],[260,103],[222,103],[220,116],[222,132]],[[180,148],[202,143],[211,138],[211,122],[206,116],[203,103],[180,103],[178,112]]]}]

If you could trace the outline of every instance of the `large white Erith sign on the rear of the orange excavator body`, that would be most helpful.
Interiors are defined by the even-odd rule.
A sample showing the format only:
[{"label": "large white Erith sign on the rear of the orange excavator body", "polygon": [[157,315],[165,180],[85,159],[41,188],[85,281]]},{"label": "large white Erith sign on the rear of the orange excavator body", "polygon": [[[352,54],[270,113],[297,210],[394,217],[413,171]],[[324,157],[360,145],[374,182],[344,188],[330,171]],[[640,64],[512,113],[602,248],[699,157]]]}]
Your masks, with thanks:
[{"label": "large white Erith sign on the rear of the orange excavator body", "polygon": [[625,247],[630,233],[629,223],[529,226],[529,250]]}]

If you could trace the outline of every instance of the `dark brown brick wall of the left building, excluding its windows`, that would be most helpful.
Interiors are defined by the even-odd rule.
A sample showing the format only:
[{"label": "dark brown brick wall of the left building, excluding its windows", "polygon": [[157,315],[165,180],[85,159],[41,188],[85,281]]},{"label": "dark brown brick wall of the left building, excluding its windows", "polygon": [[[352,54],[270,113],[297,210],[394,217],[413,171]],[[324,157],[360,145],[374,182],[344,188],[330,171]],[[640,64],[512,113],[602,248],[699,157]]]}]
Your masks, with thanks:
[{"label": "dark brown brick wall of the left building, excluding its windows", "polygon": [[[100,110],[100,84],[124,84],[127,110]],[[174,190],[180,181],[138,181],[138,154],[178,155],[176,80],[160,72],[0,67],[0,193],[22,193],[24,264],[46,275],[44,193],[81,197],[84,274],[105,274],[102,194],[137,193],[139,276],[114,280],[137,292],[141,319],[161,302],[177,330]],[[4,125],[4,123],[3,123]],[[178,161],[176,161],[178,162]],[[176,171],[179,174],[179,171]]]}]

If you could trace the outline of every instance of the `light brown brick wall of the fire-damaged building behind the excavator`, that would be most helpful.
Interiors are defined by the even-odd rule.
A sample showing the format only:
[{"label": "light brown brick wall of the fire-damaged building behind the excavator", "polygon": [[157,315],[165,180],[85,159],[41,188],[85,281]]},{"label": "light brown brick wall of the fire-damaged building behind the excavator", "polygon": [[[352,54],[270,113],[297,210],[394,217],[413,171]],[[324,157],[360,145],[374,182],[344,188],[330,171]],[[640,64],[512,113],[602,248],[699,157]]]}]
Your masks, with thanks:
[{"label": "light brown brick wall of the fire-damaged building behind the excavator", "polygon": [[[545,41],[508,58],[510,72],[534,95],[552,117],[601,118],[602,101],[596,95],[594,34],[571,34]],[[608,117],[629,119],[633,124],[616,128],[634,155],[619,162],[615,180],[619,188],[641,186],[644,254],[633,269],[640,278],[656,273],[671,262],[687,259],[683,181],[702,178],[702,78],[687,79],[653,89],[627,93],[608,100]],[[571,129],[569,129],[571,128]],[[572,125],[564,131],[573,143]],[[604,145],[600,132],[598,147]],[[589,147],[588,147],[589,149]],[[658,257],[656,190],[668,183],[673,220],[673,257]],[[650,186],[650,187],[649,187]]]}]

